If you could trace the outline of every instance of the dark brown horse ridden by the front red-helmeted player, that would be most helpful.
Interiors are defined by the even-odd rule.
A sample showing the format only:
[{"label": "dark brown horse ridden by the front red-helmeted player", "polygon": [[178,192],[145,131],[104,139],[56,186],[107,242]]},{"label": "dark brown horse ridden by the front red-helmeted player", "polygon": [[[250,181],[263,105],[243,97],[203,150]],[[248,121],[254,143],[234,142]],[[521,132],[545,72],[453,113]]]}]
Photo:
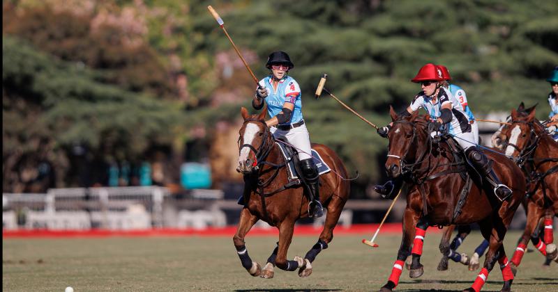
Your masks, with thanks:
[{"label": "dark brown horse ridden by the front red-helmeted player", "polygon": [[[465,188],[468,180],[460,172],[469,168],[453,155],[450,143],[435,143],[428,133],[428,115],[414,113],[402,120],[390,108],[393,127],[389,130],[389,155],[386,170],[396,178],[402,174],[409,184],[407,207],[403,216],[403,236],[397,260],[388,282],[380,291],[391,291],[398,284],[403,261],[412,254],[412,278],[423,274],[420,263],[423,238],[428,226],[467,225],[478,222],[483,237],[490,243],[485,262],[472,287],[467,291],[479,291],[488,273],[499,261],[504,276],[502,291],[510,291],[513,274],[508,266],[506,252],[502,246],[508,225],[525,194],[525,179],[513,161],[494,152],[485,153],[494,161],[494,170],[509,186],[513,194],[504,202],[497,199],[489,184],[480,176]],[[459,156],[458,156],[459,157]],[[461,156],[462,157],[462,156]],[[471,175],[472,176],[472,175]],[[472,176],[473,177],[473,176]],[[518,179],[521,178],[521,179]],[[461,204],[456,206],[462,189],[468,193]],[[412,250],[411,250],[412,246]]]}]

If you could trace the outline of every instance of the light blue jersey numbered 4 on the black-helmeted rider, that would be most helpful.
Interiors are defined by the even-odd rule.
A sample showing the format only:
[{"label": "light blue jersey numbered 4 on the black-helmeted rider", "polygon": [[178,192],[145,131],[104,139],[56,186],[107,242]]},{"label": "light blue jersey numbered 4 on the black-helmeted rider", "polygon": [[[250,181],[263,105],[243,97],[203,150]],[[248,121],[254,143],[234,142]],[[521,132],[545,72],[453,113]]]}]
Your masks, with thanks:
[{"label": "light blue jersey numbered 4 on the black-helmeted rider", "polygon": [[259,81],[260,86],[265,86],[267,88],[267,114],[269,117],[275,117],[282,111],[283,104],[289,102],[294,104],[294,109],[292,111],[291,120],[285,122],[284,124],[294,124],[302,120],[302,100],[301,100],[301,88],[299,83],[291,76],[285,76],[285,78],[279,81],[277,89],[273,91],[273,85],[271,81],[273,76],[267,76]]}]

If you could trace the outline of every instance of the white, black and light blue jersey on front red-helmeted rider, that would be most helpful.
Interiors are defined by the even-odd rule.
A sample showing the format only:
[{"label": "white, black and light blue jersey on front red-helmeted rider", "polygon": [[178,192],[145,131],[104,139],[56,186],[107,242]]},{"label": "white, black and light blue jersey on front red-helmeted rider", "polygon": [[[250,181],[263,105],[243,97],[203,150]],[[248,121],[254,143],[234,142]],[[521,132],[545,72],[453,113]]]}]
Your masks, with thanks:
[{"label": "white, black and light blue jersey on front red-helmeted rider", "polygon": [[[423,91],[418,93],[411,102],[412,111],[418,111],[419,108],[424,108],[432,120],[437,119],[442,115],[442,106],[444,104],[451,104],[451,122],[449,122],[449,133],[459,134],[471,132],[471,124],[469,124],[469,117],[461,103],[453,97],[451,92],[446,88],[439,88],[437,99],[435,103],[432,103],[432,97],[425,95]],[[447,127],[444,125],[444,127]]]}]

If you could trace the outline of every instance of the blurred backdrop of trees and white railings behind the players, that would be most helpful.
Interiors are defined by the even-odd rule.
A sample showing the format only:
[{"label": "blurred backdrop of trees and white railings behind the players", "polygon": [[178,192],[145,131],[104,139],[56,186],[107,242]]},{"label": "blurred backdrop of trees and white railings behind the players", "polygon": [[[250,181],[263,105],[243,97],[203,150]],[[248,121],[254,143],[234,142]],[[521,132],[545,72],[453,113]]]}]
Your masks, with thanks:
[{"label": "blurred backdrop of trees and white railings behind the players", "polygon": [[[379,125],[389,105],[400,111],[420,90],[409,79],[425,63],[449,68],[477,117],[503,120],[520,102],[539,103],[539,118],[550,111],[554,1],[6,0],[4,228],[236,222],[239,109],[251,108],[255,88],[208,5],[260,78],[271,51],[291,56],[310,139],[361,174],[351,222],[377,222],[389,205],[371,188],[384,176],[387,141],[312,97],[323,73]],[[481,124],[485,135],[494,130]],[[41,217],[53,212],[52,222]]]}]

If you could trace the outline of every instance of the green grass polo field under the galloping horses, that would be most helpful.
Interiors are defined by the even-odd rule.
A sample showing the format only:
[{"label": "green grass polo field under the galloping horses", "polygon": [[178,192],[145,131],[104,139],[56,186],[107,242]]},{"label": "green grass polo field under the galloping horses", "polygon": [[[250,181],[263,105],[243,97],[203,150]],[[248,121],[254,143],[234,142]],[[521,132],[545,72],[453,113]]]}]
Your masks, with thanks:
[{"label": "green grass polo field under the galloping horses", "polygon": [[[371,232],[372,233],[372,230]],[[506,236],[511,258],[520,235]],[[223,237],[153,238],[3,238],[3,291],[377,291],[385,282],[400,245],[400,236],[380,234],[379,248],[361,243],[362,236],[336,236],[322,251],[308,278],[276,269],[273,279],[251,277],[241,266],[232,235]],[[436,270],[441,257],[440,234],[427,234],[422,263],[425,273],[410,279],[404,270],[397,291],[461,291],[474,281],[469,272],[450,262]],[[370,239],[370,238],[368,238]],[[303,256],[317,236],[295,236],[289,259]],[[277,241],[275,236],[250,236],[246,246],[252,260],[264,264]],[[480,242],[473,233],[459,248],[471,254]],[[482,260],[484,257],[482,258]],[[538,252],[526,253],[513,291],[558,291],[558,266],[541,268]],[[482,261],[481,261],[482,263]],[[483,291],[499,291],[502,273],[492,270]]]}]

